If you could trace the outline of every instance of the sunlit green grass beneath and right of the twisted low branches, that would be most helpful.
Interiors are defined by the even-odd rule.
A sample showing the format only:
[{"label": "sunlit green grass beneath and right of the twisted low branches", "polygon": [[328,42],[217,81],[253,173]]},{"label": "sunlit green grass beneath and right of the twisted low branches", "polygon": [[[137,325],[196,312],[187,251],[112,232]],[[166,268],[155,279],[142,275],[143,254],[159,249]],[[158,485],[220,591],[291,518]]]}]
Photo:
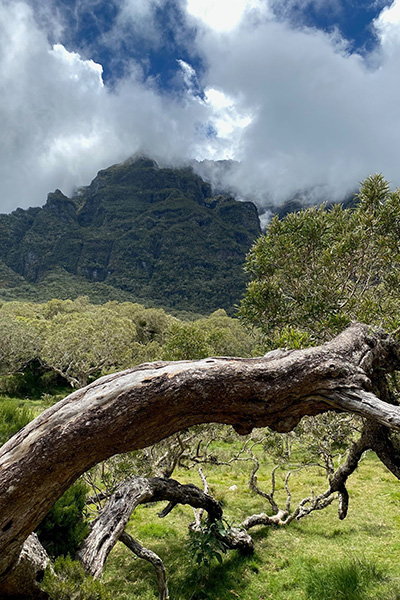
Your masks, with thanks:
[{"label": "sunlit green grass beneath and right of the twisted low branches", "polygon": [[[271,468],[272,464],[266,464],[264,472],[270,473]],[[262,499],[249,491],[248,471],[245,463],[206,468],[212,492],[223,501],[232,524],[267,509]],[[194,472],[175,476],[201,486]],[[261,475],[259,481],[262,485]],[[238,486],[236,491],[229,490],[233,484]],[[265,484],[268,488],[267,481]],[[291,487],[294,500],[299,500],[310,489],[324,490],[326,481],[315,470],[303,471],[296,474]],[[337,505],[333,505],[287,528],[254,528],[252,557],[232,551],[222,565],[216,563],[203,577],[187,550],[187,525],[193,518],[190,509],[177,507],[160,520],[159,506],[139,507],[128,530],[162,557],[173,600],[400,600],[398,481],[370,453],[348,487],[350,510],[344,521],[338,520]],[[280,497],[285,500],[282,492]],[[152,568],[135,559],[122,544],[108,560],[104,582],[118,600],[157,597]]]}]

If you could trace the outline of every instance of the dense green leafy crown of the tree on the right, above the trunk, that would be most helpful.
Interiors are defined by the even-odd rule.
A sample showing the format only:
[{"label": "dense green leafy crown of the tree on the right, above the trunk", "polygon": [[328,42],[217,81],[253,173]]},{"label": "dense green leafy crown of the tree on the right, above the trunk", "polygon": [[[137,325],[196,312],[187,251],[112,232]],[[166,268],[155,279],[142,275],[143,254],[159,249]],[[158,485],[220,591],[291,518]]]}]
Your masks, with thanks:
[{"label": "dense green leafy crown of the tree on the right, above the trunk", "polygon": [[[368,177],[353,208],[313,207],[275,217],[250,251],[240,307],[270,344],[329,338],[351,320],[397,328],[400,322],[400,191]],[[287,335],[289,334],[289,335]]]}]

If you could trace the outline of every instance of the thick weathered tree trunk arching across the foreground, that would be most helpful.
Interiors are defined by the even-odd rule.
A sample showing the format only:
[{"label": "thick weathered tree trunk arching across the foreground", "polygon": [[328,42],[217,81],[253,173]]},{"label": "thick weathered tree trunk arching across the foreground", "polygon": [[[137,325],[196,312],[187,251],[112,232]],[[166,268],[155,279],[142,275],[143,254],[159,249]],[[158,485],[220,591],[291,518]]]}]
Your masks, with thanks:
[{"label": "thick weathered tree trunk arching across the foreground", "polygon": [[0,580],[55,500],[115,453],[200,423],[231,424],[239,433],[256,426],[290,431],[302,416],[332,409],[400,430],[400,408],[372,392],[380,367],[400,367],[397,344],[381,331],[353,325],[316,348],[146,364],[74,392],[1,449]]}]

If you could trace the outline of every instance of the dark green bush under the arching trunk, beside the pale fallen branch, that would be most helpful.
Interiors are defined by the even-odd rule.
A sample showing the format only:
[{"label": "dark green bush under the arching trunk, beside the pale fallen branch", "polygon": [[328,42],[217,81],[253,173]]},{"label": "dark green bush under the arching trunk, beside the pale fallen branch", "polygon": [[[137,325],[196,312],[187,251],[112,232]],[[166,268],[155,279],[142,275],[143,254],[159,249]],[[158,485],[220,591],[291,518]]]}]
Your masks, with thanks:
[{"label": "dark green bush under the arching trunk, beside the pale fallen branch", "polygon": [[77,481],[57,500],[36,530],[50,556],[74,555],[89,532],[85,519],[87,486]]}]

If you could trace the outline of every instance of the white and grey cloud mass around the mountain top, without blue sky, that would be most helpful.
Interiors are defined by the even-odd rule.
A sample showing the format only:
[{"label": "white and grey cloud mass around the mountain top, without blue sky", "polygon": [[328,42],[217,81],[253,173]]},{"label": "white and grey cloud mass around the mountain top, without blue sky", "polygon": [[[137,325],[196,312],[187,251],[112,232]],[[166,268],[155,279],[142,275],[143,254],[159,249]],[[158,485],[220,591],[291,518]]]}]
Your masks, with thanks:
[{"label": "white and grey cloud mass around the mountain top, without blue sky", "polygon": [[[121,2],[130,10],[121,26],[135,20],[151,40],[164,0]],[[233,29],[204,24],[192,35],[190,50],[207,66],[199,77],[177,56],[186,81],[179,97],[144,80],[134,63],[111,90],[101,65],[51,47],[25,2],[3,0],[1,210],[41,204],[56,187],[69,194],[136,151],[161,163],[240,160],[222,180],[259,204],[304,190],[341,199],[379,171],[400,185],[399,4],[376,21],[381,46],[366,63],[337,34],[293,29],[264,18],[267,2],[243,0]]]}]

